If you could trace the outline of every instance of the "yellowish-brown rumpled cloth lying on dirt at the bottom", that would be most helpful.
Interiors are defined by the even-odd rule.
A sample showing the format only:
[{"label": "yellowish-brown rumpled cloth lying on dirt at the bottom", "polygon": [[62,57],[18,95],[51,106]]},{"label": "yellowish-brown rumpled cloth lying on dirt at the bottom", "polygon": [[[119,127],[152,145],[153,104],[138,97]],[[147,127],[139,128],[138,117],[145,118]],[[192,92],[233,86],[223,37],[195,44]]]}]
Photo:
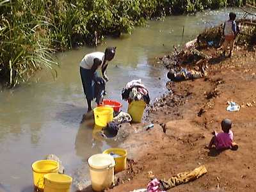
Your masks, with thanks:
[{"label": "yellowish-brown rumpled cloth lying on dirt at the bottom", "polygon": [[160,188],[162,190],[168,190],[174,188],[175,186],[179,186],[180,184],[198,179],[205,173],[207,173],[205,166],[200,166],[191,172],[179,173],[168,180],[160,180]]}]

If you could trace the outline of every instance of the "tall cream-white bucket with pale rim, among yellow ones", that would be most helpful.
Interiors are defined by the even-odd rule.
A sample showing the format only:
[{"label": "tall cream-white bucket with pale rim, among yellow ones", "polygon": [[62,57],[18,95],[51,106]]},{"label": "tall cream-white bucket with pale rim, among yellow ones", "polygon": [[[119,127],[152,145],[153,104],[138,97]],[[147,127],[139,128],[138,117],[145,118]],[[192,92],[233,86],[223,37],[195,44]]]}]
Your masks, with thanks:
[{"label": "tall cream-white bucket with pale rim, among yellow ones", "polygon": [[104,191],[110,188],[114,182],[115,160],[108,154],[95,154],[88,159],[92,189]]}]

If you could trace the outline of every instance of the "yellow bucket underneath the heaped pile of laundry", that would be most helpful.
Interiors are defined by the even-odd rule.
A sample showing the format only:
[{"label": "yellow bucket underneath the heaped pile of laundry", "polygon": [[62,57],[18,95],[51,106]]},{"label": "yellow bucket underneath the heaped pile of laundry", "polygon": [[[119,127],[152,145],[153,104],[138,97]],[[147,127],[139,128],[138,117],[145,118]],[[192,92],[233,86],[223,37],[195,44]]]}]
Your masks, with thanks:
[{"label": "yellow bucket underneath the heaped pile of laundry", "polygon": [[132,117],[132,122],[141,122],[145,107],[146,103],[143,100],[134,100],[129,103],[128,113]]}]

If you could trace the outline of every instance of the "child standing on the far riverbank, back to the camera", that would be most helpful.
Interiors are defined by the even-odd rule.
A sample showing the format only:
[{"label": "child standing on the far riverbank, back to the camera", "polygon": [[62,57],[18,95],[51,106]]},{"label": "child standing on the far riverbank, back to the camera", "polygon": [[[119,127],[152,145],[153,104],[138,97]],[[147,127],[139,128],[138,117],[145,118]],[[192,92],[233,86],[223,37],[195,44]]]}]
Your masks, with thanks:
[{"label": "child standing on the far riverbank, back to the camera", "polygon": [[223,33],[225,37],[225,42],[223,44],[223,56],[225,56],[226,51],[229,47],[230,52],[228,54],[228,57],[232,56],[232,51],[234,47],[234,42],[237,35],[237,28],[236,28],[236,13],[229,13],[229,20],[225,21]]}]

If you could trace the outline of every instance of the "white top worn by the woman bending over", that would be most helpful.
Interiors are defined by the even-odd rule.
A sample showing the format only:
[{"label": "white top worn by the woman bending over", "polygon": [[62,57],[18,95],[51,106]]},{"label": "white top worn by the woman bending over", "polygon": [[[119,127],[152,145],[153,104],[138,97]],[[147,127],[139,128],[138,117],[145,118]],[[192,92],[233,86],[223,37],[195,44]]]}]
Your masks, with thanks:
[{"label": "white top worn by the woman bending over", "polygon": [[104,61],[104,56],[105,56],[104,52],[92,52],[92,53],[86,54],[80,63],[80,67],[91,69],[93,66],[93,60],[95,58],[98,58],[99,60],[101,60],[101,63],[100,63],[100,67],[101,67]]}]

